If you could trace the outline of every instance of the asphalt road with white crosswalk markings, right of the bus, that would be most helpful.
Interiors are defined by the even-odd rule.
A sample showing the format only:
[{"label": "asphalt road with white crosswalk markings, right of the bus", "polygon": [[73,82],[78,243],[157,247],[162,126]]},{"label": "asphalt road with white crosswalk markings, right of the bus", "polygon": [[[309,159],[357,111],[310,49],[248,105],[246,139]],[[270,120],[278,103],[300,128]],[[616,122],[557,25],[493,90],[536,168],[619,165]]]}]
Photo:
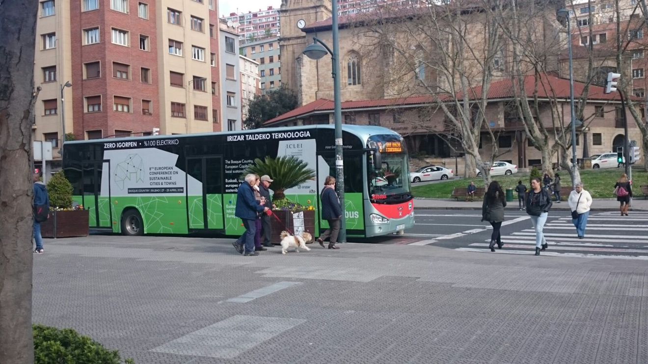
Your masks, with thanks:
[{"label": "asphalt road with white crosswalk markings, right of the bus", "polygon": [[[480,210],[417,210],[416,225],[393,244],[435,245],[459,251],[491,253],[488,244],[492,227],[481,222]],[[555,210],[544,227],[549,249],[543,255],[584,258],[648,260],[648,212],[595,212],[590,215],[585,238],[577,238],[567,211]],[[535,232],[524,211],[507,210],[502,223],[503,249],[496,253],[531,254]]]}]

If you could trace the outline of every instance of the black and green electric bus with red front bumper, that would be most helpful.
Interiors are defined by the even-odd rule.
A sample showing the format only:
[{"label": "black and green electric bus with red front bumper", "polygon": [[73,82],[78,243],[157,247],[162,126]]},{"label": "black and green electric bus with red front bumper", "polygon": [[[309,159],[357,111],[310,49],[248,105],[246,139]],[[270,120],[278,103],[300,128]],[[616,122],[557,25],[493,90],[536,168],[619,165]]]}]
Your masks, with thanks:
[{"label": "black and green electric bus with red front bumper", "polygon": [[[348,236],[402,232],[414,225],[408,155],[402,137],[379,126],[343,126]],[[293,155],[316,178],[285,190],[316,207],[326,176],[335,176],[332,125],[264,128],[65,142],[65,176],[89,210],[91,229],[113,233],[243,233],[234,216],[240,179],[255,159]],[[272,176],[271,176],[272,177]],[[272,185],[270,186],[272,190]]]}]

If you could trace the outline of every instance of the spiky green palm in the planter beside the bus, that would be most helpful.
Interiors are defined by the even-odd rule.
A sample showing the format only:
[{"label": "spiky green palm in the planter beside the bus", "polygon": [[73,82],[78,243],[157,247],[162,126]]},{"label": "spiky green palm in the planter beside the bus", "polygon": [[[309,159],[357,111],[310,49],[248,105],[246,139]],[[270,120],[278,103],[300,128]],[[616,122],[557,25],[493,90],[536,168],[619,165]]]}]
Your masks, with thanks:
[{"label": "spiky green palm in the planter beside the bus", "polygon": [[315,178],[315,170],[308,168],[308,163],[294,155],[284,157],[266,157],[264,161],[257,158],[254,164],[248,167],[246,174],[254,173],[259,176],[267,174],[273,179],[272,190],[275,192],[273,200],[286,198],[284,191]]}]

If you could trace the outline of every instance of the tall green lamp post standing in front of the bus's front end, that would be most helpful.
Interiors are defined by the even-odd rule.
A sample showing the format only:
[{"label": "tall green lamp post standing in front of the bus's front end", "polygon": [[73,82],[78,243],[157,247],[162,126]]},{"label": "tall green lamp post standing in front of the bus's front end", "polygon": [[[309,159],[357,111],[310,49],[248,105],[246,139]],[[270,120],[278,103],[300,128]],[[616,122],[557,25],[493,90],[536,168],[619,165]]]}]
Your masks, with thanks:
[{"label": "tall green lamp post standing in front of the bus's front end", "polygon": [[[308,45],[304,49],[303,54],[312,60],[319,60],[327,53],[330,54],[333,63],[333,98],[334,98],[334,120],[335,120],[335,172],[336,172],[336,187],[338,188],[338,197],[340,198],[340,206],[342,216],[340,218],[340,234],[338,235],[338,243],[345,243],[347,241],[347,222],[345,214],[344,202],[344,158],[342,149],[342,102],[340,91],[340,35],[338,34],[338,3],[337,1],[331,2],[332,12],[332,31],[333,31],[333,50],[331,51],[327,45],[319,40],[313,38],[314,43]],[[318,44],[319,43],[319,44]]]}]

